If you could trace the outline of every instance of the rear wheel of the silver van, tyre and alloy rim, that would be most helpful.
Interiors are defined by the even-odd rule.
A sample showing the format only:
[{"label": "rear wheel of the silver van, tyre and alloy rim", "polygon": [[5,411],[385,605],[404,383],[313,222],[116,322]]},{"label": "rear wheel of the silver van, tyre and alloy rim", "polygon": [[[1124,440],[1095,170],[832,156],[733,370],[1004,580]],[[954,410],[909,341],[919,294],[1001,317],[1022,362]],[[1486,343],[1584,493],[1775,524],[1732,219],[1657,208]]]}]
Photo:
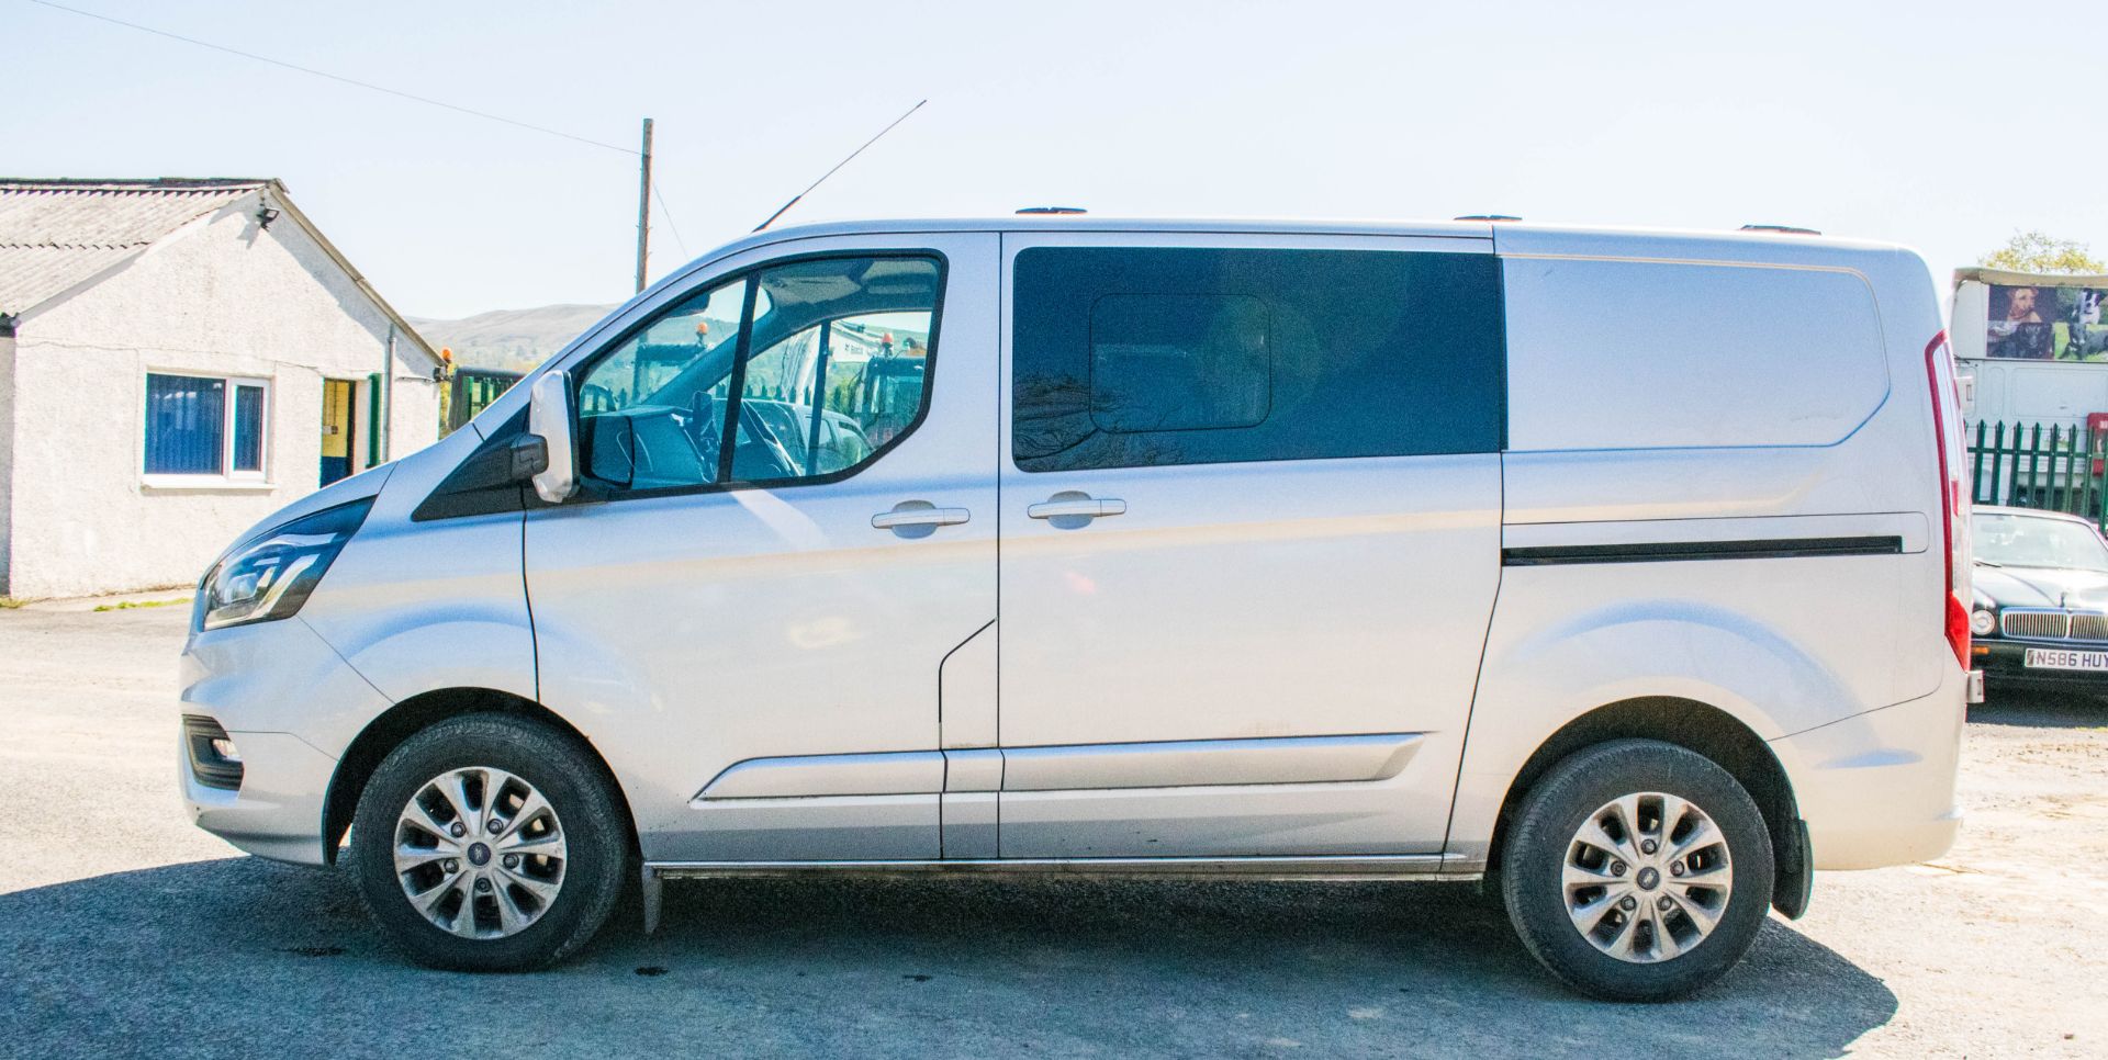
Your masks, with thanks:
[{"label": "rear wheel of the silver van, tyre and alloy rim", "polygon": [[1750,792],[1693,750],[1615,740],[1522,799],[1501,891],[1522,944],[1568,986],[1667,1001],[1718,980],[1771,908],[1771,835]]}]

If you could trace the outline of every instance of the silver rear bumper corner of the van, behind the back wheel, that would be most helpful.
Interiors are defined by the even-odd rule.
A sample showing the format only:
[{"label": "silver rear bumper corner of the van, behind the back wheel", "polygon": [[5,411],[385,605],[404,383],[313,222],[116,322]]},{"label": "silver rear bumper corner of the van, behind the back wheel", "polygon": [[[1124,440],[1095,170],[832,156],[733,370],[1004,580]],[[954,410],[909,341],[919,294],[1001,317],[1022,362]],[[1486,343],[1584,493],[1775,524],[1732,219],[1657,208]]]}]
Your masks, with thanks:
[{"label": "silver rear bumper corner of the van, behind the back wheel", "polygon": [[1954,845],[1967,687],[1954,670],[1920,700],[1771,742],[1794,784],[1815,868],[1916,864]]}]

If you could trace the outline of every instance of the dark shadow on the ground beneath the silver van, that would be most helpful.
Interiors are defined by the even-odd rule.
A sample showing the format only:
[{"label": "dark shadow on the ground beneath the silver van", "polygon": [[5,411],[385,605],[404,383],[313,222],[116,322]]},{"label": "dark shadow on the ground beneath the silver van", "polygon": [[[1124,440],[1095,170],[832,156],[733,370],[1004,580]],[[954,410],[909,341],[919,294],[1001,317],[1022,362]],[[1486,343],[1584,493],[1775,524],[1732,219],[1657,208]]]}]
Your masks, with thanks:
[{"label": "dark shadow on the ground beneath the silver van", "polygon": [[1471,887],[700,881],[538,976],[405,967],[344,872],[230,858],[0,896],[19,1056],[1832,1056],[1895,1014],[1783,923],[1678,1005],[1573,997]]}]

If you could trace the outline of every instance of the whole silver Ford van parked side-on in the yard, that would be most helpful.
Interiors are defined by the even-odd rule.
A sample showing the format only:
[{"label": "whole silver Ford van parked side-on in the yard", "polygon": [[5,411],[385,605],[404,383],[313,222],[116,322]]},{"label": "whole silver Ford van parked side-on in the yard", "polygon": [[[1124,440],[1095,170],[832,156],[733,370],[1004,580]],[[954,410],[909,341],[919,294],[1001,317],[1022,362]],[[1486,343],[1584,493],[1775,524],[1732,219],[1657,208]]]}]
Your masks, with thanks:
[{"label": "whole silver Ford van parked side-on in the yard", "polygon": [[436,967],[679,877],[1438,879],[1674,997],[1954,839],[1960,466],[1895,247],[767,232],[213,563],[181,786]]}]

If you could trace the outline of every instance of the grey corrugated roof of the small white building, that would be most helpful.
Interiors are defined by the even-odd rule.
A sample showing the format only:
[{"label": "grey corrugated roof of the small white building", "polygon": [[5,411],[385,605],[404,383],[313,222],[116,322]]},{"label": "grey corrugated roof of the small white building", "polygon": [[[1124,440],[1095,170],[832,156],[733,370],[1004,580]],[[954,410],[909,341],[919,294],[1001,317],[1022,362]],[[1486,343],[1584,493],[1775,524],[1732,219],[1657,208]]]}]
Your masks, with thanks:
[{"label": "grey corrugated roof of the small white building", "polygon": [[0,312],[32,310],[268,183],[0,179]]}]

